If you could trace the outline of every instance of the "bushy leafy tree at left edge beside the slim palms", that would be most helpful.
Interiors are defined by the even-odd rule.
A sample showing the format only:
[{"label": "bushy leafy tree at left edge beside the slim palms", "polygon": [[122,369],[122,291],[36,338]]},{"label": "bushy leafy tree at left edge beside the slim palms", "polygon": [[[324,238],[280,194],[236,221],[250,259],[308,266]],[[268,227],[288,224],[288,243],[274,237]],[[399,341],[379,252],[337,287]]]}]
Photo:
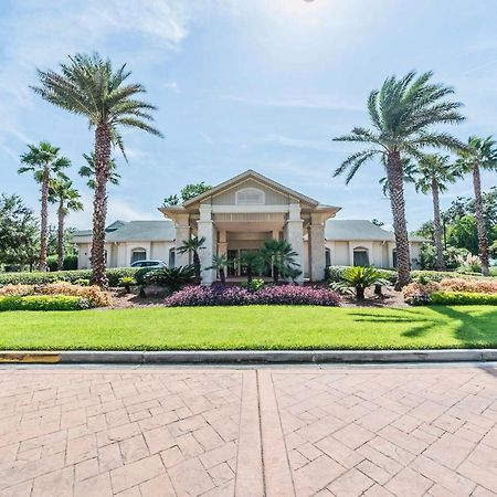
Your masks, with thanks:
[{"label": "bushy leafy tree at left edge beside the slim palms", "polygon": [[0,264],[29,265],[38,262],[40,232],[33,211],[19,195],[0,195]]}]

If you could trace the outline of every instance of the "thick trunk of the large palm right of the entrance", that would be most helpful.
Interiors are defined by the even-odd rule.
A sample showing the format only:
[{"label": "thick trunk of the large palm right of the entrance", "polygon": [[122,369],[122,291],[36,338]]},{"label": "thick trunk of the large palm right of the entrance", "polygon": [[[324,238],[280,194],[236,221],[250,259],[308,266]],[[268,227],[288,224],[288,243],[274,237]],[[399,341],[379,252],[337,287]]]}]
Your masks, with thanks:
[{"label": "thick trunk of the large palm right of the entrance", "polygon": [[398,276],[395,289],[400,290],[411,281],[411,257],[409,254],[408,223],[405,221],[405,200],[402,160],[398,151],[389,152],[387,176],[390,188],[390,203],[395,232]]}]

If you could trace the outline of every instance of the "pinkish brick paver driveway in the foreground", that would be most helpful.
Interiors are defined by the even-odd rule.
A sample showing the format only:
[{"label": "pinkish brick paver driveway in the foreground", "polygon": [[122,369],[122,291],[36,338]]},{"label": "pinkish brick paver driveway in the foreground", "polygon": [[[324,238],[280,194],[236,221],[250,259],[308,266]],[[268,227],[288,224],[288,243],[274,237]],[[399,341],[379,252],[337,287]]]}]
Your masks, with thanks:
[{"label": "pinkish brick paver driveway in the foreground", "polygon": [[72,495],[497,495],[497,368],[0,370],[0,496]]}]

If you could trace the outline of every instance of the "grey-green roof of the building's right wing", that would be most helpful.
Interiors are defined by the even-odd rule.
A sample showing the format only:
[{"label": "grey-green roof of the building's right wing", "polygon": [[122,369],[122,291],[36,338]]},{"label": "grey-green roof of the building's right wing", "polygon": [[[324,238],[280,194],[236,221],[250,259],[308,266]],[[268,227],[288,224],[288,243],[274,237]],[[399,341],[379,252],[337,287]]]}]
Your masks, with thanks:
[{"label": "grey-green roof of the building's right wing", "polygon": [[[325,237],[331,242],[348,242],[349,240],[394,242],[391,231],[377,226],[363,219],[331,219],[326,223]],[[425,242],[422,236],[409,236],[411,242]]]}]

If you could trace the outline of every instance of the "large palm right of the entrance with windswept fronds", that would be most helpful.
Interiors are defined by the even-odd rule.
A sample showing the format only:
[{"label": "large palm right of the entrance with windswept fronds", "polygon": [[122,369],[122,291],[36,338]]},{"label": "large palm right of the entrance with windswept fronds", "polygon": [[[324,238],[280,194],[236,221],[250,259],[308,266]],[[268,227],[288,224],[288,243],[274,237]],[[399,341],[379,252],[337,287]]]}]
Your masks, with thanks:
[{"label": "large palm right of the entrance with windswept fronds", "polygon": [[445,99],[454,91],[445,85],[431,83],[432,75],[431,72],[421,75],[410,72],[400,80],[395,76],[387,78],[380,91],[373,89],[369,95],[368,112],[372,128],[356,127],[351,134],[335,138],[336,141],[369,145],[369,148],[348,157],[335,171],[335,177],[348,171],[347,183],[367,161],[378,156],[383,160],[395,232],[395,289],[401,289],[409,283],[411,273],[402,160],[405,157],[423,157],[421,150],[425,147],[444,147],[448,150],[464,148],[450,134],[431,129],[434,125],[464,120],[457,112],[462,104]]}]

